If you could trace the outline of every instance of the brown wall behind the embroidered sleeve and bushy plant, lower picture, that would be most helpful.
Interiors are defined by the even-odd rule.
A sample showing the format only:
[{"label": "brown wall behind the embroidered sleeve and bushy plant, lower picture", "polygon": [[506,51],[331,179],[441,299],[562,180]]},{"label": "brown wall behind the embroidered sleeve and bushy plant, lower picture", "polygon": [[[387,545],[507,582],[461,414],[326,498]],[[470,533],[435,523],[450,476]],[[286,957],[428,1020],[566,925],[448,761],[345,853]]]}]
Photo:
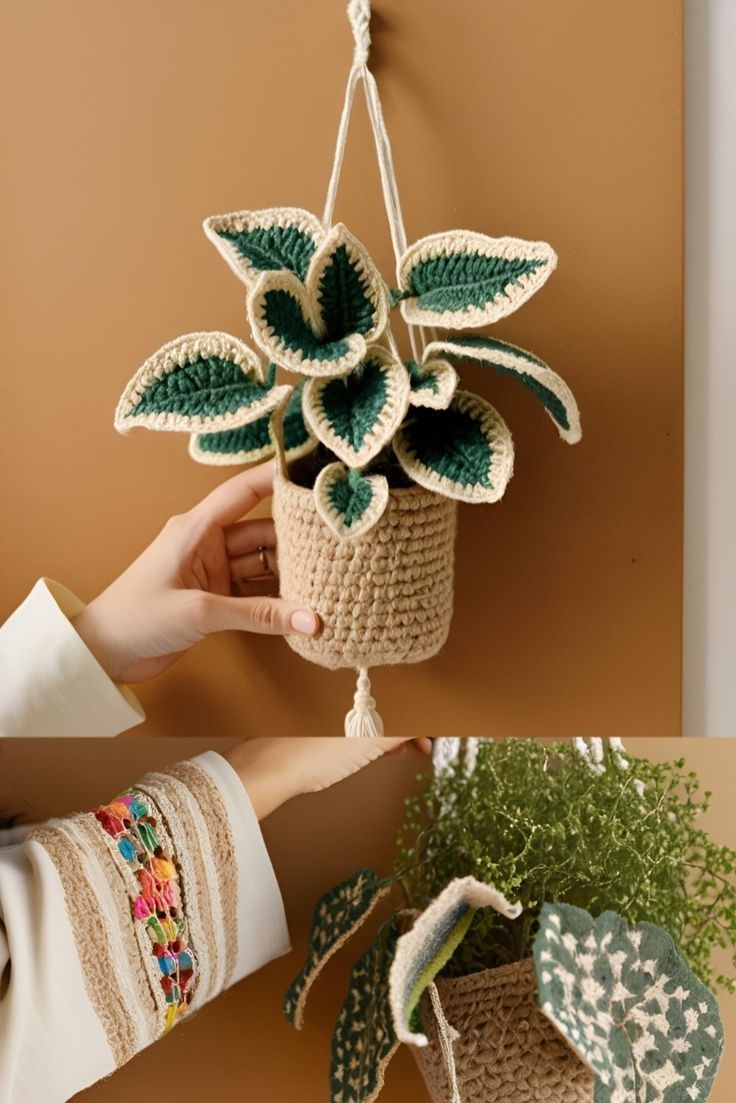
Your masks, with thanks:
[{"label": "brown wall behind the embroidered sleeve and bushy plant, lower picture", "polygon": [[[148,769],[206,748],[203,740],[28,741],[0,747],[0,807],[22,807],[45,817],[85,808],[131,784]],[[640,741],[639,753],[657,761],[684,756],[713,791],[703,826],[722,844],[736,847],[732,782],[736,740]],[[39,761],[45,769],[40,771]],[[332,1025],[345,993],[348,971],[359,944],[330,963],[297,1034],[280,1007],[298,972],[313,904],[319,895],[359,866],[391,869],[402,799],[416,791],[426,760],[412,756],[383,760],[327,793],[285,805],[265,822],[265,835],[286,902],[295,950],[236,985],[195,1018],[139,1054],[111,1080],[92,1089],[89,1103],[127,1103],[141,1083],[160,1083],[175,1070],[181,1103],[225,1100],[287,1103],[298,1085],[300,1103],[326,1103]],[[727,1049],[711,1103],[730,1103],[736,1093],[736,997],[723,996]],[[381,1103],[424,1103],[427,1096],[408,1052],[392,1063]]]}]

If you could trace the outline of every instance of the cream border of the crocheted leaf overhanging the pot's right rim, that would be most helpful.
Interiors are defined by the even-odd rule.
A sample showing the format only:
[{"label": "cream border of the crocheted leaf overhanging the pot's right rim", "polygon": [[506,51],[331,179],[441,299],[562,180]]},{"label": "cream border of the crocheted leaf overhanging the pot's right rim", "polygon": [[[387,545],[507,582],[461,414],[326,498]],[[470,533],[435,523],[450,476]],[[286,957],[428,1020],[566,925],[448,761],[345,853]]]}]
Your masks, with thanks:
[{"label": "cream border of the crocheted leaf overhanging the pot's right rim", "polygon": [[394,451],[406,474],[419,486],[433,490],[458,502],[498,502],[503,497],[509,480],[513,474],[513,440],[509,427],[490,403],[479,395],[467,390],[457,390],[449,408],[456,408],[461,414],[473,417],[491,446],[491,462],[488,469],[490,486],[478,483],[463,485],[447,475],[441,475],[426,467],[412,451],[404,430],[399,429],[394,438]]}]

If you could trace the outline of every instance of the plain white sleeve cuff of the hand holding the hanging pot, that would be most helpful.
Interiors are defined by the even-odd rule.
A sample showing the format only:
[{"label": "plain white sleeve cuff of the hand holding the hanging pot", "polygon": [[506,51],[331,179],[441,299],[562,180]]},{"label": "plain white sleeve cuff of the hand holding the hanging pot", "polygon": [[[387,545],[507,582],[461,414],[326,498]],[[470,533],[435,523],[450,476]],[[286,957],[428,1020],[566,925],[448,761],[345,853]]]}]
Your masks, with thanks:
[{"label": "plain white sleeve cuff of the hand holding the hanging pot", "polygon": [[83,609],[42,578],[0,627],[0,736],[117,736],[146,718],[75,632]]}]

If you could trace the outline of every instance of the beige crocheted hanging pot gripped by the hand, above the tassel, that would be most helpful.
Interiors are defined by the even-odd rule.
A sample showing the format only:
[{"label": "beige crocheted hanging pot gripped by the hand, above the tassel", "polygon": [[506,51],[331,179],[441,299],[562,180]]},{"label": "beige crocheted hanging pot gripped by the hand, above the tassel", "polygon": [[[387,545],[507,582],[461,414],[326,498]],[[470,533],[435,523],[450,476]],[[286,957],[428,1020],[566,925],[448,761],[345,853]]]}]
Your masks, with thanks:
[{"label": "beige crocheted hanging pot gripped by the hand, above the tassel", "polygon": [[457,503],[422,486],[392,490],[376,524],[340,539],[311,489],[274,482],[281,597],[321,618],[313,639],[288,642],[312,663],[370,667],[435,655],[452,617]]}]

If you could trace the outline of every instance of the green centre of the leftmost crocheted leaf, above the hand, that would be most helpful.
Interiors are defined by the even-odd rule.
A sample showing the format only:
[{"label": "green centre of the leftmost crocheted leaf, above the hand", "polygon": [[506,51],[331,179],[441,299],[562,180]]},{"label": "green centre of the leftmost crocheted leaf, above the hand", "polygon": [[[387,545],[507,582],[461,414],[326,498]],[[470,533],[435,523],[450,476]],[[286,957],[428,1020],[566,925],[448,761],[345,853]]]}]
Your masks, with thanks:
[{"label": "green centre of the leftmost crocheted leaf, above the hand", "polygon": [[264,398],[274,386],[276,370],[265,383],[248,378],[237,364],[206,356],[154,379],[126,417],[139,414],[181,414],[209,417],[234,414]]}]

